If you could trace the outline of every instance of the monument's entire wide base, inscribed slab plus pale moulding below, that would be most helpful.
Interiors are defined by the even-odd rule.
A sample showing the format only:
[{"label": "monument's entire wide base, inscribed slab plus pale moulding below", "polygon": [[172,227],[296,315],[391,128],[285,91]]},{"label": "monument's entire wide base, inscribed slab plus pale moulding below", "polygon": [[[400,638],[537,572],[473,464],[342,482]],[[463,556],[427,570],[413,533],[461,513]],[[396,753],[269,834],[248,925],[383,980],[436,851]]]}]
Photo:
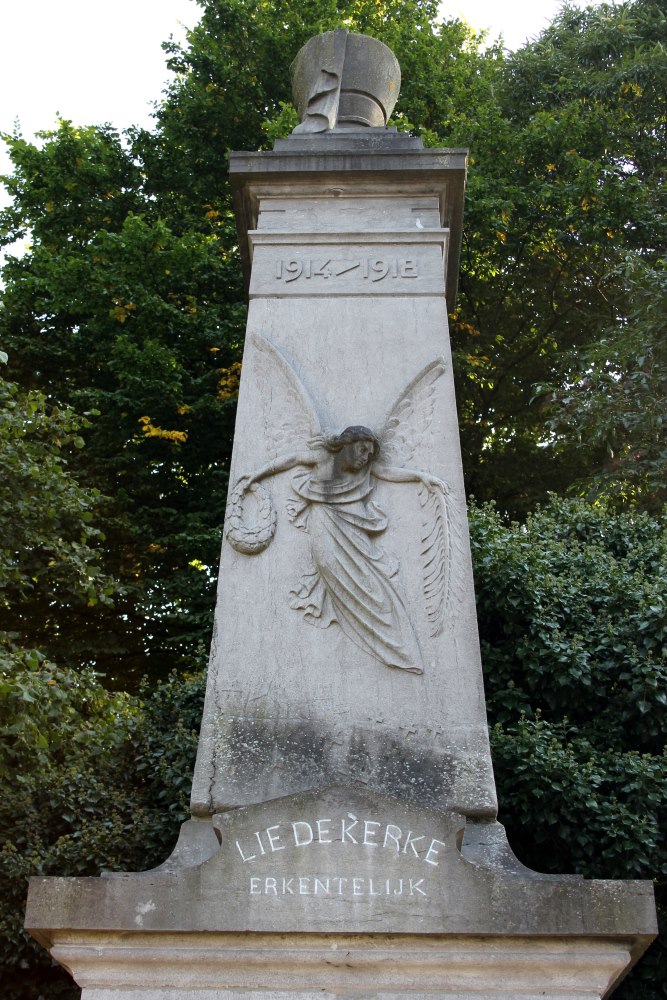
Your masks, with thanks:
[{"label": "monument's entire wide base, inscribed slab plus pale moulding below", "polygon": [[649,883],[540,875],[498,823],[349,788],[190,821],[152,872],[33,878],[26,926],[82,1000],[583,1000],[656,933]]}]

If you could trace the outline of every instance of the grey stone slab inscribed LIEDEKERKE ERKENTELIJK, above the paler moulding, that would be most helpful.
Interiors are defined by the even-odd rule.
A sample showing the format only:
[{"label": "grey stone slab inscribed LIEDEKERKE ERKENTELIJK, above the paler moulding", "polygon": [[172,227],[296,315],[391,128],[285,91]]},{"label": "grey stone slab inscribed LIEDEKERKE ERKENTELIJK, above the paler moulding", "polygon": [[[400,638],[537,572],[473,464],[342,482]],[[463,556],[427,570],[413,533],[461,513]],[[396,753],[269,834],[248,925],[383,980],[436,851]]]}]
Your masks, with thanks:
[{"label": "grey stone slab inscribed LIEDEKERKE ERKENTELIJK, above the paler moulding", "polygon": [[189,868],[34,879],[27,926],[627,939],[654,930],[646,883],[542,876],[480,863],[474,851],[468,860],[463,817],[368,792],[288,796],[213,824],[219,850]]}]

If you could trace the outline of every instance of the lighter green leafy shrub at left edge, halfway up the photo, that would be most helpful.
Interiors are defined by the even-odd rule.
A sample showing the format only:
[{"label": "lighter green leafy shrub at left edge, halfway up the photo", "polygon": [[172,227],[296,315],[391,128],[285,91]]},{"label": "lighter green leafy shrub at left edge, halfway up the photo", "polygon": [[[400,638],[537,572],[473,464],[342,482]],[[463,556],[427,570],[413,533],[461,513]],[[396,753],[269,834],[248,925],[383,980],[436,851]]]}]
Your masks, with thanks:
[{"label": "lighter green leafy shrub at left edge, halfway up the photo", "polygon": [[111,607],[100,566],[102,498],[72,475],[87,417],[22,391],[0,372],[0,667],[22,648],[55,655],[63,617],[82,658],[94,655],[80,619]]}]

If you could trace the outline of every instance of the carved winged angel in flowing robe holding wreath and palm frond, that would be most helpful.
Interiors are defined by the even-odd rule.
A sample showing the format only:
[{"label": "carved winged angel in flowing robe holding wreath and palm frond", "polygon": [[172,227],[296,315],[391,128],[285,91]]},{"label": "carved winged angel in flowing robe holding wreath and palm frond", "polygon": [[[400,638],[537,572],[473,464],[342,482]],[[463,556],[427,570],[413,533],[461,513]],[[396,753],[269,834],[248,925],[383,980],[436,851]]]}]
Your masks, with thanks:
[{"label": "carved winged angel in flowing robe holding wreath and palm frond", "polygon": [[[267,420],[274,459],[238,480],[230,495],[226,534],[238,551],[253,555],[271,542],[276,513],[264,480],[296,470],[290,521],[308,533],[312,565],[290,592],[290,605],[311,625],[337,622],[345,635],[381,663],[423,673],[419,643],[401,595],[396,560],[381,544],[387,514],[373,499],[378,479],[414,483],[424,513],[421,555],[424,596],[432,635],[443,627],[451,591],[451,518],[448,487],[409,467],[430,431],[434,387],[445,370],[431,362],[405,387],[384,428],[346,427],[325,434],[317,411],[278,348],[255,336],[260,373],[282,382],[290,416],[280,427]],[[278,380],[276,376],[278,375]]]}]

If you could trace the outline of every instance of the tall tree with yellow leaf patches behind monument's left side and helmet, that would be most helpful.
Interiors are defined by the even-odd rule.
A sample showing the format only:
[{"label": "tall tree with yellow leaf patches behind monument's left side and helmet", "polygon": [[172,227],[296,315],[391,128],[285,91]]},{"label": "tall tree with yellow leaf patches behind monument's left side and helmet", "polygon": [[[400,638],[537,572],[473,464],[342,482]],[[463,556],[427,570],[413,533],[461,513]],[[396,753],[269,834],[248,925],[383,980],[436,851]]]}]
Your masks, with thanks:
[{"label": "tall tree with yellow leaf patches behind monument's left side and helmet", "polygon": [[85,662],[113,683],[183,668],[209,638],[245,322],[226,152],[267,141],[288,97],[285,33],[298,46],[341,18],[404,52],[417,114],[431,113],[434,84],[448,101],[483,89],[487,57],[435,14],[216,0],[171,50],[179,76],[155,134],[62,121],[41,148],[8,140],[4,241],[31,243],[4,268],[0,333],[22,385],[98,413],[76,473],[111,498],[104,568],[122,594]]}]

